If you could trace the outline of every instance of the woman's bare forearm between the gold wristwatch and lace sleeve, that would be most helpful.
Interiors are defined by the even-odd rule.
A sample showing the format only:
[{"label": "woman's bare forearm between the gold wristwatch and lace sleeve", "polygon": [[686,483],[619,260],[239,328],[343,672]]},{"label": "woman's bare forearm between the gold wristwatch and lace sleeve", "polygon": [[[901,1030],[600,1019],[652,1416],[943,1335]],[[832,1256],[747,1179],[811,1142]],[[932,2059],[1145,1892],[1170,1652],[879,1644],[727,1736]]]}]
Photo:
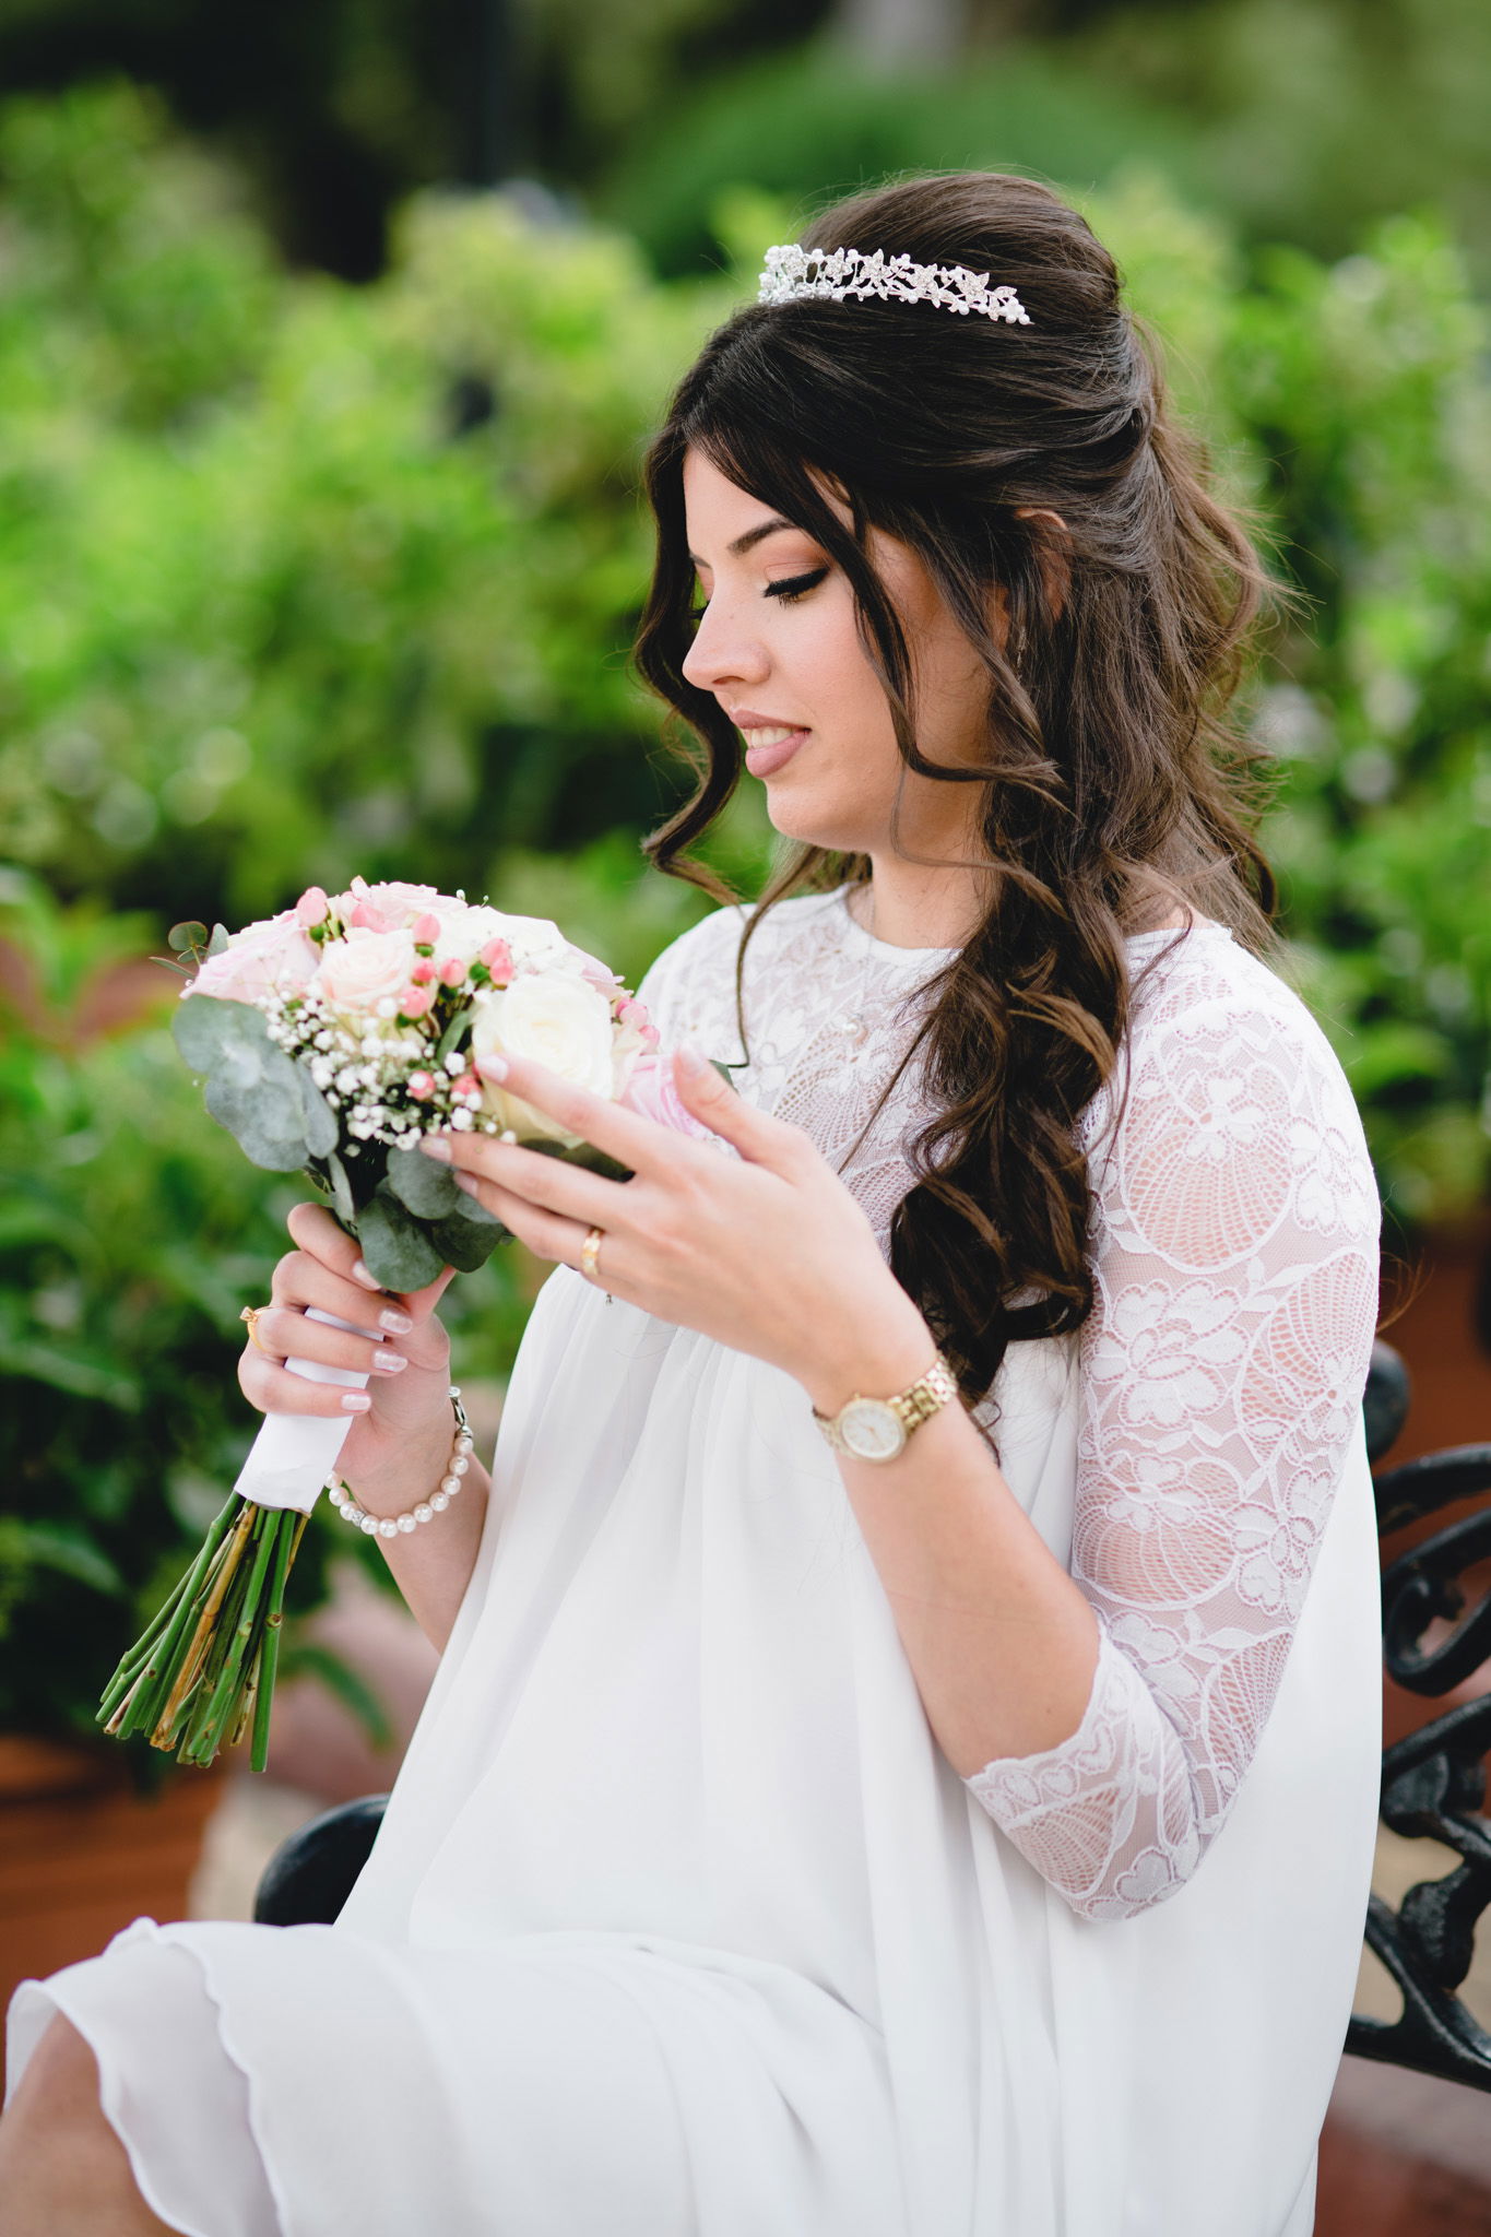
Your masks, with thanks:
[{"label": "woman's bare forearm between the gold wristwatch and lace sleeve", "polygon": [[[910,1300],[908,1300],[910,1304]],[[843,1367],[805,1378],[834,1414],[885,1398],[932,1362],[919,1313],[861,1333]],[[961,1778],[1055,1747],[1082,1722],[1098,1617],[1010,1492],[961,1405],[941,1407],[894,1461],[838,1456],[937,1743]]]}]

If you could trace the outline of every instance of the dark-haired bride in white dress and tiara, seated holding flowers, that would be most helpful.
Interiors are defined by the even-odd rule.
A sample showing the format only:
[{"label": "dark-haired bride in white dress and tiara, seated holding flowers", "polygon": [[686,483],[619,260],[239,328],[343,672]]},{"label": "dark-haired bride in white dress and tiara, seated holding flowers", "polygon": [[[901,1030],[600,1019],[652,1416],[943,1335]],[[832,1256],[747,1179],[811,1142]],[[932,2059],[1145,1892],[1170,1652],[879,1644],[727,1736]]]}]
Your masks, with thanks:
[{"label": "dark-haired bride in white dress and tiara, seated holding flowers", "polygon": [[[773,251],[648,494],[702,752],[646,855],[722,904],[639,989],[693,1132],[512,1058],[633,1179],[434,1145],[554,1273],[490,1476],[380,1539],[443,1660],[378,1843],[335,1926],[25,1984],[0,2219],[1305,2237],[1379,1215],[1245,832],[1259,561],[1107,251],[997,174]],[[742,752],[753,908],[686,855]],[[351,1407],[360,1510],[429,1512],[443,1284],[291,1235],[244,1391]]]}]

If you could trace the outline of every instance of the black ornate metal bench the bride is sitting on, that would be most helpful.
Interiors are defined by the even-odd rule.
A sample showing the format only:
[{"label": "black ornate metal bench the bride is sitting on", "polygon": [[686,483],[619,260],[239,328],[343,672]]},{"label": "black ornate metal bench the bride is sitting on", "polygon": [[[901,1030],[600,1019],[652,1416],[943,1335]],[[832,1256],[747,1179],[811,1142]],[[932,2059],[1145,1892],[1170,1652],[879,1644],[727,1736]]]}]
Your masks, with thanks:
[{"label": "black ornate metal bench the bride is sitting on", "polygon": [[[1366,1443],[1377,1463],[1408,1414],[1408,1376],[1377,1344],[1366,1398]],[[1460,1499],[1491,1492],[1491,1445],[1433,1452],[1377,1479],[1384,1535]],[[1487,1577],[1473,1570],[1487,1564]],[[1411,1693],[1440,1698],[1491,1660],[1491,1506],[1435,1532],[1388,1564],[1381,1579],[1384,1658]],[[1444,1879],[1408,1888],[1397,1910],[1373,1895],[1366,1942],[1397,1982],[1397,2020],[1350,2022],[1346,2049],[1446,2080],[1491,2089],[1491,2033],[1457,1998],[1471,1969],[1475,1924],[1491,1904],[1487,1752],[1491,1693],[1437,1716],[1381,1758],[1381,1821],[1408,1839],[1442,1841],[1460,1857]],[[331,1924],[367,1863],[387,1794],[311,1819],[279,1843],[255,1899],[262,1926]]]}]

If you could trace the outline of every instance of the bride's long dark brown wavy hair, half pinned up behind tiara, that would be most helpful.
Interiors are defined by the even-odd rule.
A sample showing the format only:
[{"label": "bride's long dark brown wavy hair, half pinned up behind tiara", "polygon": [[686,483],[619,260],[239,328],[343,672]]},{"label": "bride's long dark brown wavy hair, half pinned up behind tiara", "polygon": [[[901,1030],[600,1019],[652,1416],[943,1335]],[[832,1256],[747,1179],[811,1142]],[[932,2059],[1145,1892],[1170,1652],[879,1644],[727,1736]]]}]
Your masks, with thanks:
[{"label": "bride's long dark brown wavy hair, half pinned up behind tiara", "polygon": [[[1227,705],[1270,577],[1167,414],[1113,257],[1051,188],[999,172],[899,181],[823,213],[803,246],[972,266],[1015,286],[1031,324],[794,300],[744,309],[706,342],[646,463],[657,568],[637,638],[642,676],[706,754],[691,752],[697,790],[644,852],[738,899],[684,855],[742,767],[718,700],[682,673],[693,638],[682,465],[697,447],[845,570],[905,765],[984,787],[990,902],[932,984],[917,1047],[934,1116],[892,1224],[892,1268],[975,1403],[1013,1340],[1075,1329],[1091,1311],[1077,1118],[1124,1033],[1124,933],[1145,904],[1165,915],[1158,893],[1252,948],[1267,942],[1259,756],[1227,727]],[[847,499],[849,528],[825,481]],[[921,557],[981,655],[977,770],[917,749],[912,662],[867,559],[870,528]],[[995,586],[1008,595],[1004,644],[990,631]],[[798,846],[751,915],[742,964],[773,902],[867,875],[863,855]]]}]

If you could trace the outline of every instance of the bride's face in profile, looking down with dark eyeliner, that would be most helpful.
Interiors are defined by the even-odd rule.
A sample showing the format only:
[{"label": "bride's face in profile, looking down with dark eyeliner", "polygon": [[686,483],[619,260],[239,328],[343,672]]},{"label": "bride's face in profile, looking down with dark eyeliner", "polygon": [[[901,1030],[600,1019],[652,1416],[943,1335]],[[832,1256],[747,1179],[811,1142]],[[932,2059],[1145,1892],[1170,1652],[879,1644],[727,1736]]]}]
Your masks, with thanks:
[{"label": "bride's face in profile, looking down with dark eyeliner", "polygon": [[[847,506],[827,497],[849,521]],[[684,459],[688,550],[702,620],[684,676],[713,691],[767,787],[776,830],[820,848],[887,855],[903,781],[899,843],[914,855],[979,855],[979,785],[912,774],[858,633],[854,593],[820,544],[747,497],[702,452]],[[905,544],[870,532],[912,655],[917,745],[928,761],[986,752],[986,673]]]}]

